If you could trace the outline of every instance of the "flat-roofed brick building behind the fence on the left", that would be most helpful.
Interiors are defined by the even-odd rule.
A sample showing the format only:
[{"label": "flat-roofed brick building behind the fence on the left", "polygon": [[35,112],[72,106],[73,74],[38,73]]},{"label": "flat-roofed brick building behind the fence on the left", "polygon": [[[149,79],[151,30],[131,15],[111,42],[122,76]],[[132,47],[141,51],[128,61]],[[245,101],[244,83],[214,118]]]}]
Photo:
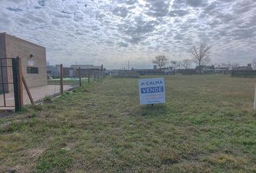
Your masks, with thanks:
[{"label": "flat-roofed brick building behind the fence on the left", "polygon": [[[0,33],[0,58],[2,66],[11,66],[12,61],[4,58],[15,58],[19,56],[22,60],[22,73],[29,87],[47,85],[46,74],[46,48],[22,40],[7,33]],[[2,68],[4,82],[12,82],[12,68]],[[1,92],[2,86],[0,86]],[[4,92],[12,92],[13,88],[4,86]]]}]

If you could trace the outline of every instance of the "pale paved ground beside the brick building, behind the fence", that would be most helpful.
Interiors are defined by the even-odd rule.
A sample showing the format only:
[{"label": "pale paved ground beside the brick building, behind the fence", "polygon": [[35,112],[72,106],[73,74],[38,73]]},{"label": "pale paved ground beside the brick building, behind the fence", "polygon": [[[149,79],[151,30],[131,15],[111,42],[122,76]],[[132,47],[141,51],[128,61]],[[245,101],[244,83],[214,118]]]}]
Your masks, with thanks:
[{"label": "pale paved ground beside the brick building, behind the fence", "polygon": [[[72,85],[64,85],[64,91],[74,88]],[[54,95],[60,92],[59,85],[46,85],[46,86],[39,86],[35,88],[30,88],[30,93],[34,99],[34,102],[43,99],[46,95]],[[0,107],[0,110],[10,110],[14,109],[14,93],[10,92],[5,94],[5,100],[7,107]],[[23,88],[23,102],[24,105],[30,105],[30,99],[27,95],[25,88]],[[4,94],[0,94],[0,106],[4,106]]]}]

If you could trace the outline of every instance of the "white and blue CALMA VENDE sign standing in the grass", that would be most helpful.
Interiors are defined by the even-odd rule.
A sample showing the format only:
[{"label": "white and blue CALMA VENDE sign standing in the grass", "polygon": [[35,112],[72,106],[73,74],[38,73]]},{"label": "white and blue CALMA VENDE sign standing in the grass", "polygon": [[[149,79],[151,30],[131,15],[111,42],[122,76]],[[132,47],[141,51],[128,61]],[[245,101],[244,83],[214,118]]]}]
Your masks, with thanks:
[{"label": "white and blue CALMA VENDE sign standing in the grass", "polygon": [[139,79],[140,105],[166,102],[164,79]]}]

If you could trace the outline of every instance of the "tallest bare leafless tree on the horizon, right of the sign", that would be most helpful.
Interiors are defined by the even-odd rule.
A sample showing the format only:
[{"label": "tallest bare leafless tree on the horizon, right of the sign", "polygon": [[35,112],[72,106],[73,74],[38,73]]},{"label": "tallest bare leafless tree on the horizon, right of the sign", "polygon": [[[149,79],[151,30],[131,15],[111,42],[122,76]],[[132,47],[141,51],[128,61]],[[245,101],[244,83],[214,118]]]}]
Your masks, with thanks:
[{"label": "tallest bare leafless tree on the horizon, right of the sign", "polygon": [[191,55],[195,62],[198,64],[199,73],[201,74],[202,66],[210,62],[210,46],[205,43],[201,43],[199,47],[193,45],[191,48]]}]

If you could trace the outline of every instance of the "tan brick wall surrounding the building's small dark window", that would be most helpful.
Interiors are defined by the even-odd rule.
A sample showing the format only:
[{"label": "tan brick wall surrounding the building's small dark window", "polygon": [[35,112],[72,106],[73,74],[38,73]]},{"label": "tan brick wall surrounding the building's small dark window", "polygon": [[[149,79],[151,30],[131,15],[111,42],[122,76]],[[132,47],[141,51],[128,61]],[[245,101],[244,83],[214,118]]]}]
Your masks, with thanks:
[{"label": "tan brick wall surrounding the building's small dark window", "polygon": [[[29,87],[47,85],[46,48],[18,37],[1,33],[1,37],[3,37],[3,35],[7,58],[20,56],[22,59],[22,72],[27,81],[27,85]],[[30,57],[30,55],[33,55],[33,57]],[[38,74],[27,74],[27,67],[37,67]],[[12,81],[12,73],[10,70],[12,69],[8,69],[8,80]]]}]

